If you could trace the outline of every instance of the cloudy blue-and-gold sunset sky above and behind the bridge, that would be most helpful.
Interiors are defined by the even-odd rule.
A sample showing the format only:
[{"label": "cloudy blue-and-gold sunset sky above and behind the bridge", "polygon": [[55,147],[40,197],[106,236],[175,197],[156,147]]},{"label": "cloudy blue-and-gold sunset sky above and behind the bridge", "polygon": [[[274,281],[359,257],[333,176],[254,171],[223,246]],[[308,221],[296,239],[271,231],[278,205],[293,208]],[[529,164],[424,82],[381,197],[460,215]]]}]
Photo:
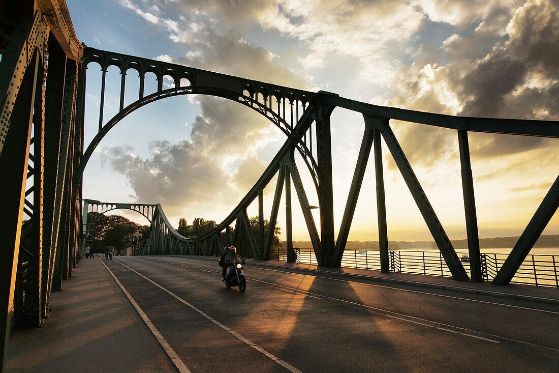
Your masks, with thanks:
[{"label": "cloudy blue-and-gold sunset sky above and behind the bridge", "polygon": [[[376,105],[490,118],[559,120],[557,0],[66,0],[88,46],[164,60]],[[86,144],[97,132],[101,71],[88,67]],[[169,81],[164,81],[169,85]],[[107,72],[105,122],[120,75]],[[111,88],[112,87],[112,88]],[[146,76],[146,92],[157,87]],[[137,74],[127,74],[125,105]],[[361,145],[362,116],[331,117],[336,232]],[[391,122],[451,239],[466,238],[456,130]],[[559,173],[559,139],[470,133],[480,237],[522,234]],[[161,203],[181,217],[221,222],[285,141],[233,101],[191,95],[144,106],[116,125],[84,172],[83,197]],[[383,144],[389,240],[432,240]],[[309,202],[309,173],[298,168]],[[275,180],[264,189],[269,217]],[[372,156],[349,240],[378,240]],[[292,192],[293,240],[309,240]],[[282,206],[283,206],[282,201]],[[142,224],[134,213],[118,211]],[[249,216],[258,213],[257,203]],[[313,210],[319,225],[318,212]],[[285,234],[285,212],[278,223]],[[559,234],[556,213],[543,234]]]}]

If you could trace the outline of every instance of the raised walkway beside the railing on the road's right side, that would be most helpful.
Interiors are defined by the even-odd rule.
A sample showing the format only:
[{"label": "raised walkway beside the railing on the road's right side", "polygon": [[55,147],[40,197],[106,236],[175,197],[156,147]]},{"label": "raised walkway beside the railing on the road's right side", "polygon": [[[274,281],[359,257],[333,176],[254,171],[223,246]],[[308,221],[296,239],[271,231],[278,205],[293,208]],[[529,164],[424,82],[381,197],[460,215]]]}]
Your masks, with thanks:
[{"label": "raised walkway beside the railing on the road's right side", "polygon": [[[196,256],[200,260],[214,260],[215,258]],[[265,268],[281,268],[292,272],[311,273],[316,276],[320,274],[337,275],[350,278],[368,279],[386,283],[397,283],[401,285],[412,285],[420,287],[439,288],[457,292],[477,293],[489,296],[498,296],[509,299],[519,299],[550,304],[559,304],[559,289],[555,287],[530,286],[530,285],[506,285],[495,286],[490,282],[466,282],[455,281],[449,277],[425,276],[423,274],[398,273],[373,271],[372,269],[360,268],[325,268],[312,264],[286,263],[276,260],[254,260],[246,259],[247,265]]]}]

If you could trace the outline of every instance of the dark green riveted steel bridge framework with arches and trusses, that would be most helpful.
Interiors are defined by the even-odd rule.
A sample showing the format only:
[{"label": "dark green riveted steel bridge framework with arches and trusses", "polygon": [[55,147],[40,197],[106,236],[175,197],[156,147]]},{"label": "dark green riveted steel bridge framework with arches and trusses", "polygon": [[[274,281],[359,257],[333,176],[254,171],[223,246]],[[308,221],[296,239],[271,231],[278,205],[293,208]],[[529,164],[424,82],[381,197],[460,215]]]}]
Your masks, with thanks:
[{"label": "dark green riveted steel bridge framework with arches and trusses", "polygon": [[[385,192],[382,174],[381,138],[394,158],[413,195],[425,223],[454,279],[482,281],[473,193],[469,132],[515,134],[559,138],[559,123],[542,120],[468,118],[377,106],[345,99],[330,92],[309,92],[242,77],[180,66],[88,48],[76,38],[64,1],[22,0],[0,3],[0,356],[4,356],[11,323],[15,328],[39,327],[49,315],[51,291],[61,289],[61,280],[72,276],[72,268],[83,255],[83,212],[87,206],[122,208],[124,204],[94,203],[82,199],[82,174],[103,137],[136,109],[167,97],[210,95],[233,100],[257,111],[285,134],[285,143],[266,171],[224,221],[197,239],[179,235],[159,206],[126,204],[151,221],[144,254],[216,255],[229,239],[250,250],[256,259],[269,258],[273,229],[264,237],[263,189],[277,175],[276,192],[269,211],[269,226],[276,225],[282,194],[286,201],[287,246],[292,252],[291,183],[314,249],[323,267],[339,267],[356,208],[369,153],[373,151],[376,172],[378,235],[381,270],[390,271],[386,228]],[[87,67],[97,64],[101,75],[101,105],[98,131],[91,143],[84,143],[84,110]],[[112,118],[103,115],[106,73],[110,66],[121,72],[119,111]],[[138,99],[124,104],[125,82],[130,70],[139,75]],[[147,73],[154,73],[157,90],[145,94]],[[169,77],[173,86],[163,86]],[[355,172],[347,197],[342,224],[334,235],[330,114],[335,108],[363,115],[365,129]],[[425,195],[414,170],[392,131],[391,121],[456,130],[462,167],[462,188],[466,214],[471,272],[466,273],[451,241]],[[295,152],[309,169],[319,201],[320,231],[299,170]],[[285,188],[284,188],[285,187]],[[311,186],[312,187],[312,186]],[[283,190],[285,189],[285,192]],[[247,207],[258,198],[260,240],[249,227]],[[82,205],[82,201],[85,203]],[[98,202],[98,201],[97,201]],[[157,202],[157,201],[156,201]],[[506,285],[529,253],[559,204],[559,176],[534,213],[518,243],[495,277]],[[136,207],[138,208],[136,208]],[[84,209],[85,208],[85,209]],[[149,211],[148,211],[149,210]],[[146,212],[147,211],[147,212]],[[27,220],[22,222],[27,217]],[[12,307],[13,306],[13,307]]]}]

